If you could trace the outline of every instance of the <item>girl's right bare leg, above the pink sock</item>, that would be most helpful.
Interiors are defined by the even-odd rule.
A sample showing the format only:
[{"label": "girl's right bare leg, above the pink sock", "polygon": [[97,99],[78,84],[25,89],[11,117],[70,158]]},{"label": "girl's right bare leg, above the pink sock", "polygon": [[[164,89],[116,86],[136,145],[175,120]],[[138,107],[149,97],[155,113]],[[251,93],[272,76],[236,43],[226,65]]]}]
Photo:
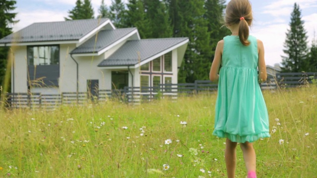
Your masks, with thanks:
[{"label": "girl's right bare leg, above the pink sock", "polygon": [[256,178],[256,152],[250,142],[240,143],[243,159],[247,167],[248,178]]}]

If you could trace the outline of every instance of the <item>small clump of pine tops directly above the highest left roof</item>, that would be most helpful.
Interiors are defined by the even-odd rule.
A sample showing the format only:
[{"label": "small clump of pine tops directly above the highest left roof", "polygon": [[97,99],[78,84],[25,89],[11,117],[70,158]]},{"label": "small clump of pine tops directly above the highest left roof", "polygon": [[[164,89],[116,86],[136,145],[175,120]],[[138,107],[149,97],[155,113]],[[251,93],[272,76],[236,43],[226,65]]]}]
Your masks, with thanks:
[{"label": "small clump of pine tops directly above the highest left roof", "polygon": [[65,20],[91,19],[94,18],[94,9],[90,0],[76,0],[75,7],[68,14],[68,18],[64,17]]}]

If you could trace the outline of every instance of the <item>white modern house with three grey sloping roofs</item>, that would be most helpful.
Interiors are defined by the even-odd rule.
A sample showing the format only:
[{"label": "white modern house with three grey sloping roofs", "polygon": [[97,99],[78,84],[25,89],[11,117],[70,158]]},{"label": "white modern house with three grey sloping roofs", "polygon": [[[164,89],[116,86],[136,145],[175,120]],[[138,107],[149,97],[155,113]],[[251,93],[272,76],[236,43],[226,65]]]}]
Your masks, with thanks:
[{"label": "white modern house with three grey sloping roofs", "polygon": [[0,39],[11,46],[13,93],[61,94],[177,84],[188,38],[140,39],[109,19],[34,23]]}]

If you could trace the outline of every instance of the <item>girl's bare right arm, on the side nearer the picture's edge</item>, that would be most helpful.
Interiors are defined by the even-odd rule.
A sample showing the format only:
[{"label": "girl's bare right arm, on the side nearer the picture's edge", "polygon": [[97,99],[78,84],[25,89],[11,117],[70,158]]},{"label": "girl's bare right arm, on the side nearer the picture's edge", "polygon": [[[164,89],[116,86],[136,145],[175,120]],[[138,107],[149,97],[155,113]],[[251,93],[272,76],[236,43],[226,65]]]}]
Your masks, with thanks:
[{"label": "girl's bare right arm, on the side nearer the picture's edge", "polygon": [[258,40],[258,52],[259,52],[259,60],[258,60],[258,68],[259,68],[259,77],[258,80],[260,83],[266,81],[266,66],[264,60],[264,45],[261,40]]}]

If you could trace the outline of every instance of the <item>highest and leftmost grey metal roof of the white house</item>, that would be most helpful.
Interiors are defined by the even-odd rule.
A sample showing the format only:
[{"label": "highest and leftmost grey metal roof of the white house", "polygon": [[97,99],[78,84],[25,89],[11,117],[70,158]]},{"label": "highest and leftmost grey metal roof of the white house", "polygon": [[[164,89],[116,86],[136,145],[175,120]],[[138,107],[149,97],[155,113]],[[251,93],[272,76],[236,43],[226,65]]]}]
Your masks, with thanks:
[{"label": "highest and leftmost grey metal roof of the white house", "polygon": [[100,22],[99,19],[85,19],[34,23],[2,38],[0,44],[79,40],[106,20],[108,19],[102,18]]}]

